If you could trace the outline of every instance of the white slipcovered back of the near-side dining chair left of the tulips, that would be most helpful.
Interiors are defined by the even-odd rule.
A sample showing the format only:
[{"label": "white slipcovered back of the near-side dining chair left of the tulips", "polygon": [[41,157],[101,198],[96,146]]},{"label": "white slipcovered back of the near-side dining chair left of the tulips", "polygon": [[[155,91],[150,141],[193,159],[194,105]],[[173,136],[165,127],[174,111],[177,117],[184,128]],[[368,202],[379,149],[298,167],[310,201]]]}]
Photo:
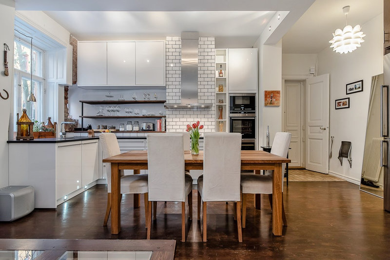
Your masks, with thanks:
[{"label": "white slipcovered back of the near-side dining chair left of the tulips", "polygon": [[149,201],[185,201],[183,134],[148,134]]}]

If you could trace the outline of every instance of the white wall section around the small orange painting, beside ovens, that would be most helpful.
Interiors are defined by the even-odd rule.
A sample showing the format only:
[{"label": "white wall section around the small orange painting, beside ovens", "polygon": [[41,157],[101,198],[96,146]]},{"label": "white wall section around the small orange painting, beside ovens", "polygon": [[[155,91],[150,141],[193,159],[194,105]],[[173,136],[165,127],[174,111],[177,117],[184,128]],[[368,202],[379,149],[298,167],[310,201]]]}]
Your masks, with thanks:
[{"label": "white wall section around the small orange painting, beside ovens", "polygon": [[271,145],[275,133],[282,131],[282,106],[264,106],[264,90],[282,90],[282,41],[275,45],[265,45],[260,37],[254,48],[258,50],[258,147],[260,147],[266,144],[267,125],[270,127]]}]

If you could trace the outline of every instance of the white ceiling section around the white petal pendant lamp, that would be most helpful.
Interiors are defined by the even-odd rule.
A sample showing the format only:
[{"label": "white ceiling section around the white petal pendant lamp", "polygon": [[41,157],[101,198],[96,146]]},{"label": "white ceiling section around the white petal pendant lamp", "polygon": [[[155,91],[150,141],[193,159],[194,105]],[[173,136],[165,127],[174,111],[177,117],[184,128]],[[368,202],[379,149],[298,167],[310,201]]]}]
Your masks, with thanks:
[{"label": "white ceiling section around the white petal pendant lamp", "polygon": [[348,24],[362,25],[363,32],[364,24],[383,12],[383,0],[316,0],[283,37],[283,53],[318,53],[331,46],[332,33],[345,26],[346,5],[351,6]]}]

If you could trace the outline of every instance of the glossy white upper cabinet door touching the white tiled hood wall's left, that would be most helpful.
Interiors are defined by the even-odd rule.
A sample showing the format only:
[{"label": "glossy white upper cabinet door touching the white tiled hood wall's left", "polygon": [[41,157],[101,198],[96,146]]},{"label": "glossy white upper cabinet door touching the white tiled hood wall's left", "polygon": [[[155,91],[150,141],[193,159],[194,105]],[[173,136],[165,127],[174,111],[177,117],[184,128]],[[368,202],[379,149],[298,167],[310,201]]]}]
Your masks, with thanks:
[{"label": "glossy white upper cabinet door touching the white tiled hood wall's left", "polygon": [[136,42],[136,84],[165,85],[163,41]]}]

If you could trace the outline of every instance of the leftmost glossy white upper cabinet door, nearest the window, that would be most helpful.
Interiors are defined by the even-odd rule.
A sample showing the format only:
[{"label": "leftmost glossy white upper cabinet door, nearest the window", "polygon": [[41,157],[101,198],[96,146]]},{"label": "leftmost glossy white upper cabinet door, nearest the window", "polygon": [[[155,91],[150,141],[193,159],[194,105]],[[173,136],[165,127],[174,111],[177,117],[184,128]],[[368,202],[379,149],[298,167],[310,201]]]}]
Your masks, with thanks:
[{"label": "leftmost glossy white upper cabinet door, nearest the window", "polygon": [[107,42],[78,42],[78,85],[107,85]]}]

